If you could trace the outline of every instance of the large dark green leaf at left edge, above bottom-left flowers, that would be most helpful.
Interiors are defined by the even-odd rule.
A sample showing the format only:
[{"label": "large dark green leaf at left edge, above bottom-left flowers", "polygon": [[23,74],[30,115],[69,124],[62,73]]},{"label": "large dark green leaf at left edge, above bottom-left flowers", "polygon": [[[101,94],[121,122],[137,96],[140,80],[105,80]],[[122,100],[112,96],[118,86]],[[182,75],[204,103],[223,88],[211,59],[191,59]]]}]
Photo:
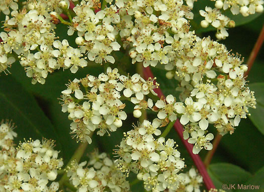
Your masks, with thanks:
[{"label": "large dark green leaf at left edge, above bottom-left flowers", "polygon": [[47,139],[56,140],[60,143],[53,125],[38,106],[34,97],[11,75],[0,76],[0,118],[12,119],[17,125],[15,132],[18,133],[16,140]]}]

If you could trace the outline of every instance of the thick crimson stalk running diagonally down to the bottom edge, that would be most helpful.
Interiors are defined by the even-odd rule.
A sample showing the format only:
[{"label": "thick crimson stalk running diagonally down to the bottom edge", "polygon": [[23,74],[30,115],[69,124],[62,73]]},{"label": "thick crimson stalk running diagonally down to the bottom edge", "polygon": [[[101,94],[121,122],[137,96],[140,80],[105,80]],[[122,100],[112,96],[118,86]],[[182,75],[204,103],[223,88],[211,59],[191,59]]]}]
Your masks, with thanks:
[{"label": "thick crimson stalk running diagonally down to the bottom edge", "polygon": [[[149,77],[154,78],[154,75],[151,72],[151,69],[149,67],[144,68],[144,76],[145,78],[149,78]],[[158,94],[159,98],[163,95],[159,87],[155,88],[154,91]],[[184,129],[179,119],[175,122],[173,126],[174,126],[174,129],[177,131],[178,135],[180,136],[182,142],[184,143],[188,153],[192,157],[197,169],[199,170],[200,174],[203,176],[206,188],[208,190],[210,190],[211,188],[215,188],[214,183],[211,180],[202,159],[200,158],[198,154],[193,154],[193,144],[188,143],[187,140],[184,139],[184,135],[183,135]]]}]

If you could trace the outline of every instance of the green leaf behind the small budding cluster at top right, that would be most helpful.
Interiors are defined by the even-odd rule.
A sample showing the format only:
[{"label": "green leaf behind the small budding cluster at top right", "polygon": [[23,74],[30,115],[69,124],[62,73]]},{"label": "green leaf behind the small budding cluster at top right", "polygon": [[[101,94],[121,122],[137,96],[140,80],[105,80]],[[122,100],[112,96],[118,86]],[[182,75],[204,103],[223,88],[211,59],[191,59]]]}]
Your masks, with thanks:
[{"label": "green leaf behind the small budding cluster at top right", "polygon": [[[210,0],[203,0],[203,1],[197,1],[194,3],[193,13],[194,13],[194,19],[190,21],[191,26],[193,27],[193,30],[195,30],[197,33],[204,33],[209,31],[216,31],[216,28],[212,27],[211,25],[207,28],[202,28],[200,23],[202,20],[204,20],[204,17],[202,17],[199,13],[200,10],[205,10],[205,7],[211,7],[214,9],[215,2]],[[248,17],[244,17],[241,14],[233,15],[231,11],[228,10],[221,10],[222,14],[229,17],[231,20],[235,21],[236,26],[244,25],[246,23],[251,22],[252,20],[256,19],[261,15],[261,13],[256,13],[253,15],[249,15]]]}]

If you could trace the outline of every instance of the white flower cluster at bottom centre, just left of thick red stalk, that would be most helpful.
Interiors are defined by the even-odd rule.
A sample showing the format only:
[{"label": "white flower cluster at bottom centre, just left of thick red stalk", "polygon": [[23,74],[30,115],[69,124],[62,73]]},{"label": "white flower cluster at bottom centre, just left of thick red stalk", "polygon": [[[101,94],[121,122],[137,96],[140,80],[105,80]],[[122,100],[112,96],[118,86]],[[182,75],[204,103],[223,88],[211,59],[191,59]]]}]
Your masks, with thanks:
[{"label": "white flower cluster at bottom centre, just left of thick red stalk", "polygon": [[164,191],[166,188],[176,190],[185,181],[185,175],[179,173],[185,167],[184,159],[175,149],[172,139],[164,137],[154,139],[153,134],[161,134],[158,127],[161,121],[152,123],[144,120],[142,125],[125,133],[119,149],[115,150],[118,168],[126,172],[137,173],[137,178],[144,181],[146,190]]}]

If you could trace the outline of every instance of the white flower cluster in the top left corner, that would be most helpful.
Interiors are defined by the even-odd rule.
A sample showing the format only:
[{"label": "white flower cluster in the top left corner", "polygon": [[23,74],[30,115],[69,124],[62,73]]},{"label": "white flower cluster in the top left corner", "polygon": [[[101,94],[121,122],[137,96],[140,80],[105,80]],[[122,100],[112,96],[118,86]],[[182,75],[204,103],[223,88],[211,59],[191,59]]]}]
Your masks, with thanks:
[{"label": "white flower cluster in the top left corner", "polygon": [[[0,35],[3,40],[1,49],[5,50],[5,53],[17,54],[21,58],[21,65],[25,67],[27,76],[33,78],[33,83],[44,83],[48,72],[56,68],[52,54],[56,27],[52,24],[52,17],[49,14],[53,10],[61,13],[59,0],[29,0],[22,11],[16,9],[11,12],[10,17],[6,17],[4,23],[6,32]],[[2,56],[1,65],[6,66],[1,67],[1,71],[12,64],[11,59]]]}]

